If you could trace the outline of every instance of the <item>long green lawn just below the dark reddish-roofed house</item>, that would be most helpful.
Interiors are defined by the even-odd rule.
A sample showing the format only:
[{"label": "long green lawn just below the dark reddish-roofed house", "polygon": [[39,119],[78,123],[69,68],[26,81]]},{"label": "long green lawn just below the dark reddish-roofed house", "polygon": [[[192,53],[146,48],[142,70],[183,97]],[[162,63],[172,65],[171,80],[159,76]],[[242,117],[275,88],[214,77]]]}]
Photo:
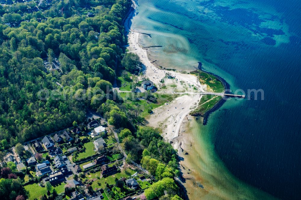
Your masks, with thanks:
[{"label": "long green lawn just below the dark reddish-roofed house", "polygon": [[[95,188],[104,188],[107,183],[109,183],[110,185],[114,184],[115,183],[115,178],[120,179],[122,177],[129,177],[133,174],[135,174],[135,171],[132,170],[132,169],[129,169],[129,168],[127,168],[126,170],[122,169],[120,173],[113,174],[113,175],[108,176],[108,177],[102,177],[100,179],[97,179],[97,180],[93,181],[92,188],[93,189],[95,189]],[[91,179],[95,178],[96,175],[100,176],[100,171],[98,171],[94,174],[86,175],[86,178],[91,180]]]}]

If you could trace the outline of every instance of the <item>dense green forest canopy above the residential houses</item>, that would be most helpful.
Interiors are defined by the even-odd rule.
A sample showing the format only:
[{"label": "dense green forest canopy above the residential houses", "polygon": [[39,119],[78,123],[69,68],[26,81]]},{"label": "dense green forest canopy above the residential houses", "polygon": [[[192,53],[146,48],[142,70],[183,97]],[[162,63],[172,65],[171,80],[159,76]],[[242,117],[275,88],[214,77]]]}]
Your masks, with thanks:
[{"label": "dense green forest canopy above the residential houses", "polygon": [[[0,6],[3,22],[27,20],[17,28],[0,24],[0,149],[82,122],[87,108],[106,101],[42,101],[38,92],[58,89],[68,97],[86,96],[100,89],[99,81],[112,83],[115,62],[123,57],[122,21],[130,5],[129,0],[54,0],[49,9],[33,13],[25,12],[24,3]],[[95,17],[87,17],[87,11]],[[43,61],[55,58],[61,71],[46,71]]]}]

